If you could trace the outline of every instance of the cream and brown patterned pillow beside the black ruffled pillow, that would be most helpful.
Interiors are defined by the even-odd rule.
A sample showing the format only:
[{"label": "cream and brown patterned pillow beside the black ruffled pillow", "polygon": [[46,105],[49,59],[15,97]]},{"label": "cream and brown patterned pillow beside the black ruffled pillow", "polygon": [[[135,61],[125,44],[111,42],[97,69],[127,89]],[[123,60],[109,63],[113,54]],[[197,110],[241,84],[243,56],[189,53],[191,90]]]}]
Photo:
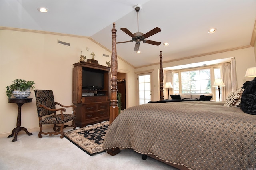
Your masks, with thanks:
[{"label": "cream and brown patterned pillow beside the black ruffled pillow", "polygon": [[232,91],[224,104],[224,106],[228,107],[237,107],[241,103],[241,97],[242,97],[243,90],[242,88],[238,88],[235,91]]}]

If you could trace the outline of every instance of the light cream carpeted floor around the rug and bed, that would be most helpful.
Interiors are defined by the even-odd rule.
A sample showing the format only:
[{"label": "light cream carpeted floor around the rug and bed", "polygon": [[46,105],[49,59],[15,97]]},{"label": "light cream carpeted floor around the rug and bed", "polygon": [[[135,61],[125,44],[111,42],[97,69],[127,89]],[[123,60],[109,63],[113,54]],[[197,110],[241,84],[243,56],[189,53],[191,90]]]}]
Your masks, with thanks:
[{"label": "light cream carpeted floor around the rug and bed", "polygon": [[[77,127],[78,129],[78,127]],[[65,128],[64,132],[72,128]],[[90,156],[60,135],[43,135],[21,131],[17,141],[0,137],[0,170],[176,170],[153,158],[142,160],[132,149],[121,149],[116,156],[106,152]]]}]

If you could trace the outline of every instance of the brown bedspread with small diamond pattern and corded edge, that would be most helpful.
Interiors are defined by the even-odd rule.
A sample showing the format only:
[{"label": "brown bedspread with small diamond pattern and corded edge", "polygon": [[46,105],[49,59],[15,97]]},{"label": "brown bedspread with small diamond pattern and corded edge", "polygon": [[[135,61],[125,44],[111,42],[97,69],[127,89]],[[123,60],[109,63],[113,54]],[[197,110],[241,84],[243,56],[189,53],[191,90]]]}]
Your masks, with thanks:
[{"label": "brown bedspread with small diamond pattern and corded edge", "polygon": [[256,168],[256,115],[218,102],[138,105],[110,125],[103,148],[115,147],[195,170]]}]

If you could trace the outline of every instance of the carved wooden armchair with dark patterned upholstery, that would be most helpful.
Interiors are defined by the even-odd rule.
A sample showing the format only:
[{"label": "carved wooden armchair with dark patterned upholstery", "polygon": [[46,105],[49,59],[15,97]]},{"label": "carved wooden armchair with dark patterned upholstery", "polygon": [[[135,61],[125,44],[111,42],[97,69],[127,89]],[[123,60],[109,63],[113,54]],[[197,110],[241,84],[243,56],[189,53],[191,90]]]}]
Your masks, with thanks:
[{"label": "carved wooden armchair with dark patterned upholstery", "polygon": [[[54,96],[52,90],[35,90],[36,95],[36,107],[39,118],[39,127],[40,131],[38,134],[39,138],[42,138],[42,134],[56,135],[61,134],[60,138],[64,137],[63,128],[65,127],[73,127],[73,130],[76,129],[75,121],[76,118],[76,106],[64,106],[58,102],[54,101]],[[55,105],[60,105],[61,107],[73,107],[73,114],[63,114],[66,111],[65,108],[55,108]],[[56,114],[56,111],[60,111],[60,114]],[[64,125],[72,121],[72,125]],[[54,132],[42,132],[42,125],[44,124],[54,124],[53,130]],[[58,126],[57,124],[61,124]],[[58,129],[56,129],[58,127]]]}]

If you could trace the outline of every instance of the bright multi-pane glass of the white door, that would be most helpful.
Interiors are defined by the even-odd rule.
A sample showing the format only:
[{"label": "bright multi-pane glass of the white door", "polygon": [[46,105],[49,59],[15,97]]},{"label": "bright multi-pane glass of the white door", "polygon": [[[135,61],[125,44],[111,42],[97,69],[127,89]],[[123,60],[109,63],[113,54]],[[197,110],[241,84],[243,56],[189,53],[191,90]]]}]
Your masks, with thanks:
[{"label": "bright multi-pane glass of the white door", "polygon": [[138,75],[138,97],[139,104],[145,104],[151,101],[151,75],[150,73]]}]

